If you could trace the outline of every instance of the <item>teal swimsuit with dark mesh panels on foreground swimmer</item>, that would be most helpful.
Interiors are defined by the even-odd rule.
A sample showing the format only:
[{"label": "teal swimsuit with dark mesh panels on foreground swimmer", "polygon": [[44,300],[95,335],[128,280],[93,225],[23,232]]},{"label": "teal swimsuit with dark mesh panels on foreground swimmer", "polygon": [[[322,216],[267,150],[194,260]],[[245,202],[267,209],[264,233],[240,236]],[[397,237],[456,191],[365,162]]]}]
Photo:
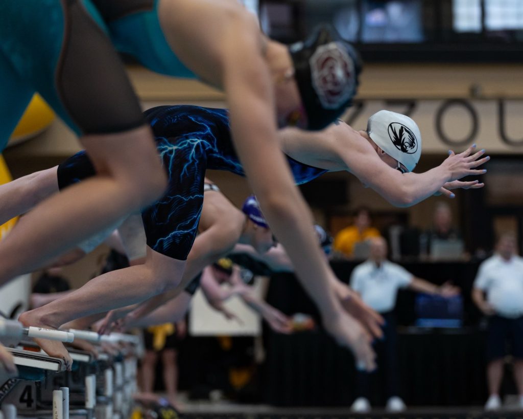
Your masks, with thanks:
[{"label": "teal swimsuit with dark mesh panels on foreground swimmer", "polygon": [[163,36],[158,0],[2,0],[0,151],[38,92],[77,135],[144,125],[115,51],[145,67],[194,78]]}]

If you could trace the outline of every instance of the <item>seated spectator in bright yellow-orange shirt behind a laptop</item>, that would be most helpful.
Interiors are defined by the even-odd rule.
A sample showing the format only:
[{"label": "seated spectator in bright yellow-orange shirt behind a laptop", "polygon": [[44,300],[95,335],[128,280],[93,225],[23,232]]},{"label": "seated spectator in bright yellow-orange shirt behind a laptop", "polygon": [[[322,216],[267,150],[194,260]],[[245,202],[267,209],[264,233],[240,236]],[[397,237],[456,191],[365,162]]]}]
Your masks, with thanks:
[{"label": "seated spectator in bright yellow-orange shirt behind a laptop", "polygon": [[[348,258],[355,255],[356,244],[365,242],[372,237],[380,237],[378,229],[371,227],[371,217],[368,208],[360,207],[356,211],[354,225],[340,230],[334,238],[334,250],[343,253]],[[365,255],[368,256],[368,255]]]}]

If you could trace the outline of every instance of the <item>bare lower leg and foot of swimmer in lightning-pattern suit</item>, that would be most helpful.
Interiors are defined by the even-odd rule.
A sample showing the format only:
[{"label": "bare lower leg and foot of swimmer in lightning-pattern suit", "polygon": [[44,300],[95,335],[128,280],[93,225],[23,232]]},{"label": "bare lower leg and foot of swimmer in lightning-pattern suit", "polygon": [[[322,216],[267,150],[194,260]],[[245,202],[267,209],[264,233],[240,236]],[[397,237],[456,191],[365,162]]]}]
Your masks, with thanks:
[{"label": "bare lower leg and foot of swimmer in lightning-pattern suit", "polygon": [[[56,329],[79,317],[144,301],[178,285],[185,263],[148,247],[144,264],[100,275],[59,300],[22,313],[19,321],[26,326]],[[37,342],[50,356],[69,356],[60,342],[46,339]]]}]

